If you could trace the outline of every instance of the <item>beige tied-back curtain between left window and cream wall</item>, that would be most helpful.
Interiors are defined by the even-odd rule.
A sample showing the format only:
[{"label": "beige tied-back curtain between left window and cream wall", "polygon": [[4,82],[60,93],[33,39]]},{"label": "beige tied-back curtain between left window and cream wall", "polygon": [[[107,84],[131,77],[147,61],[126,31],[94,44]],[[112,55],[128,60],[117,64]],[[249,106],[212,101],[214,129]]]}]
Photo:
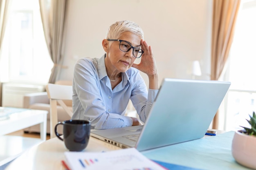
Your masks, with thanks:
[{"label": "beige tied-back curtain between left window and cream wall", "polygon": [[64,24],[68,0],[39,0],[45,40],[54,62],[49,83],[55,83],[63,63]]}]

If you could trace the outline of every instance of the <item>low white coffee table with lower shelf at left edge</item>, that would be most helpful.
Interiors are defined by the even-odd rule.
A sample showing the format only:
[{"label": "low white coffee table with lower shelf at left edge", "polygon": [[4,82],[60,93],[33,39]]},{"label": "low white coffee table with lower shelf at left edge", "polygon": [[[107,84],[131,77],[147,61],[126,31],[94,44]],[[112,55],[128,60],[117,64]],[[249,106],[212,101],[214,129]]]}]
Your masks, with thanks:
[{"label": "low white coffee table with lower shelf at left edge", "polygon": [[[47,111],[22,108],[0,107],[0,166],[12,161],[25,150],[46,140]],[[40,139],[6,135],[29,126],[40,124]]]}]

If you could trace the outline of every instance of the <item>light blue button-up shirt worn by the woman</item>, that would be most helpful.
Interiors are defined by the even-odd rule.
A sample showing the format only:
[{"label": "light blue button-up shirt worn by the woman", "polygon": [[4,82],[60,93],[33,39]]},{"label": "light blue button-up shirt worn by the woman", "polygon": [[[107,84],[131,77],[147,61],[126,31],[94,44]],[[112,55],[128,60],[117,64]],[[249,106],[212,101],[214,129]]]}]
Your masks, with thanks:
[{"label": "light blue button-up shirt worn by the woman", "polygon": [[129,99],[145,122],[159,90],[149,89],[136,68],[122,73],[122,81],[112,90],[101,58],[82,58],[74,66],[72,119],[91,121],[95,129],[132,126],[124,116]]}]

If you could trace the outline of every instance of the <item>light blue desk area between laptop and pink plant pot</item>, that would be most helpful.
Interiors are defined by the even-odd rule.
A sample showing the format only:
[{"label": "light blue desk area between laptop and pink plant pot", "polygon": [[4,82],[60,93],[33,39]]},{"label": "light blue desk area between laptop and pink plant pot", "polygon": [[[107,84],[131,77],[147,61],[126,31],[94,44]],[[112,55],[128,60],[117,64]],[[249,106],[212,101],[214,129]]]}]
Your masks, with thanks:
[{"label": "light blue desk area between laptop and pink plant pot", "polygon": [[234,131],[142,152],[149,159],[200,170],[249,170],[231,153]]}]

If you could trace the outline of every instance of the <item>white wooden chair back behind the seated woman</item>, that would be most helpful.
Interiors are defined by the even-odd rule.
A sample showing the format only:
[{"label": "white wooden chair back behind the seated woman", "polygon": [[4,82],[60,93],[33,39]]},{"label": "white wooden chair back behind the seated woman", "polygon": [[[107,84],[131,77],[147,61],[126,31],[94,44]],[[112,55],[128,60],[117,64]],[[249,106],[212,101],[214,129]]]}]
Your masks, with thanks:
[{"label": "white wooden chair back behind the seated woman", "polygon": [[58,123],[57,102],[72,117],[73,113],[67,108],[63,100],[72,100],[72,86],[61,84],[47,84],[45,86],[48,98],[50,100],[50,137],[56,137],[54,128]]}]

